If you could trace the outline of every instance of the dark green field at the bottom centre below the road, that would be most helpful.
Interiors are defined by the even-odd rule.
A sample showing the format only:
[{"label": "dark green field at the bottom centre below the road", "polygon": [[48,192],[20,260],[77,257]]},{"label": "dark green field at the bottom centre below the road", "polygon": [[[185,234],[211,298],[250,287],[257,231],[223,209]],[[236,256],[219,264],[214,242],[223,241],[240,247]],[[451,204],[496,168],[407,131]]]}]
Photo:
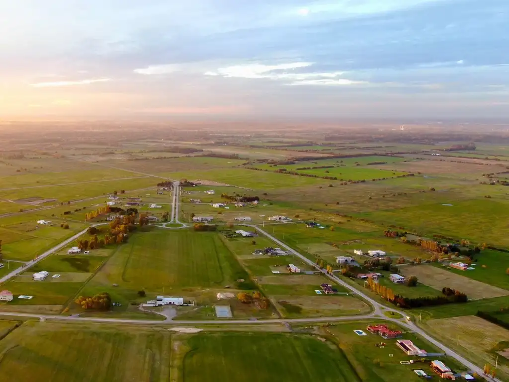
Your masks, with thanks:
[{"label": "dark green field at the bottom centre below the road", "polygon": [[341,349],[313,337],[200,334],[189,340],[189,346],[183,365],[186,382],[362,381]]}]

